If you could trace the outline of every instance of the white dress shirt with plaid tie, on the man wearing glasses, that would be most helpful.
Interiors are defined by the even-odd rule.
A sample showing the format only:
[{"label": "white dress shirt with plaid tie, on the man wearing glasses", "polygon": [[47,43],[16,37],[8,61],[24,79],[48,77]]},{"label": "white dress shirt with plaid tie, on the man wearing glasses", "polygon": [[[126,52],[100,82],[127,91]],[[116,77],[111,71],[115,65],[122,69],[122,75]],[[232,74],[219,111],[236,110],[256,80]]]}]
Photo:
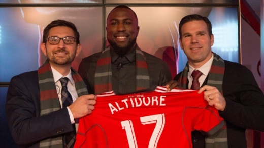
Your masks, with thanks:
[{"label": "white dress shirt with plaid tie, on the man wearing glasses", "polygon": [[[78,95],[77,95],[77,92],[76,92],[76,89],[75,89],[75,83],[74,83],[74,80],[73,80],[73,77],[72,77],[71,70],[70,70],[70,72],[69,72],[69,74],[67,76],[61,75],[53,67],[51,67],[51,70],[52,70],[54,82],[55,82],[55,85],[56,85],[57,94],[58,94],[58,97],[59,97],[59,103],[60,103],[60,106],[62,108],[62,101],[61,101],[61,88],[62,88],[62,86],[61,86],[61,83],[60,83],[59,79],[62,78],[62,77],[67,77],[69,79],[68,84],[67,84],[67,87],[68,87],[67,90],[70,92],[70,94],[71,94],[71,96],[73,98],[73,102],[76,100],[76,98],[78,98]],[[75,121],[74,121],[73,113],[72,113],[72,111],[70,110],[69,107],[67,107],[67,109],[68,109],[68,112],[69,112],[71,123],[74,124]]]}]

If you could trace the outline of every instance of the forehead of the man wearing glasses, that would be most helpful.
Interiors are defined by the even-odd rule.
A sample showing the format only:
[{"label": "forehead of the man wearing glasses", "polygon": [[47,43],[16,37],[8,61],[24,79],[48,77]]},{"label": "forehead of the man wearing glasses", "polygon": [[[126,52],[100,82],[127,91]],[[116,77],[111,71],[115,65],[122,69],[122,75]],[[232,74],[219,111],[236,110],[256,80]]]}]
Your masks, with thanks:
[{"label": "forehead of the man wearing glasses", "polygon": [[74,36],[74,31],[70,27],[57,26],[49,30],[49,36]]}]

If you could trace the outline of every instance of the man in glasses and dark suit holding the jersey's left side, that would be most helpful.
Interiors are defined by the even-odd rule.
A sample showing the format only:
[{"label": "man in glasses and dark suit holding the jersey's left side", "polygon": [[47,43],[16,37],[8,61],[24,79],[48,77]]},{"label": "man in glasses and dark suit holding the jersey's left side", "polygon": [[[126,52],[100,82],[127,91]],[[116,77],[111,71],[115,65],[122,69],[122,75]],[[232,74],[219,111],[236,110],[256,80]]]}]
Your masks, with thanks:
[{"label": "man in glasses and dark suit holding the jersey's left side", "polygon": [[82,48],[79,37],[73,23],[52,21],[41,44],[45,63],[11,79],[6,114],[18,147],[73,147],[76,119],[92,112],[96,98],[71,68]]}]

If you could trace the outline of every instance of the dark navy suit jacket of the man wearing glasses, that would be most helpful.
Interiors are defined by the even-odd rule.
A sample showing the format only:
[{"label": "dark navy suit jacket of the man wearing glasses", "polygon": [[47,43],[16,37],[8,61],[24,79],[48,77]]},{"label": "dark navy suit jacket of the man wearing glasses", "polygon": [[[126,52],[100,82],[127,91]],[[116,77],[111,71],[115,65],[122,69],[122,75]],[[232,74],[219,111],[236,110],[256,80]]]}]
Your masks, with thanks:
[{"label": "dark navy suit jacket of the man wearing glasses", "polygon": [[43,139],[73,131],[67,108],[40,116],[38,71],[22,73],[11,79],[6,114],[18,147],[39,147]]}]

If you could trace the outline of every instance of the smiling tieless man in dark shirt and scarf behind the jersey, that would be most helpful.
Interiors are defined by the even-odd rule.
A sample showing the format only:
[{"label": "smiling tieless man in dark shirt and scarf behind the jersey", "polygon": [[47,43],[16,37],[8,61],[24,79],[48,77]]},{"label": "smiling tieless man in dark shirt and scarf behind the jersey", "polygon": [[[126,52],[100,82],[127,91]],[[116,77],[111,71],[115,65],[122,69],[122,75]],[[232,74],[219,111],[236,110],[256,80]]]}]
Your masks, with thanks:
[{"label": "smiling tieless man in dark shirt and scarf behind the jersey", "polygon": [[92,93],[131,93],[166,85],[172,79],[167,63],[142,51],[136,43],[138,18],[129,7],[115,7],[107,17],[106,30],[110,45],[84,58],[78,69]]}]

